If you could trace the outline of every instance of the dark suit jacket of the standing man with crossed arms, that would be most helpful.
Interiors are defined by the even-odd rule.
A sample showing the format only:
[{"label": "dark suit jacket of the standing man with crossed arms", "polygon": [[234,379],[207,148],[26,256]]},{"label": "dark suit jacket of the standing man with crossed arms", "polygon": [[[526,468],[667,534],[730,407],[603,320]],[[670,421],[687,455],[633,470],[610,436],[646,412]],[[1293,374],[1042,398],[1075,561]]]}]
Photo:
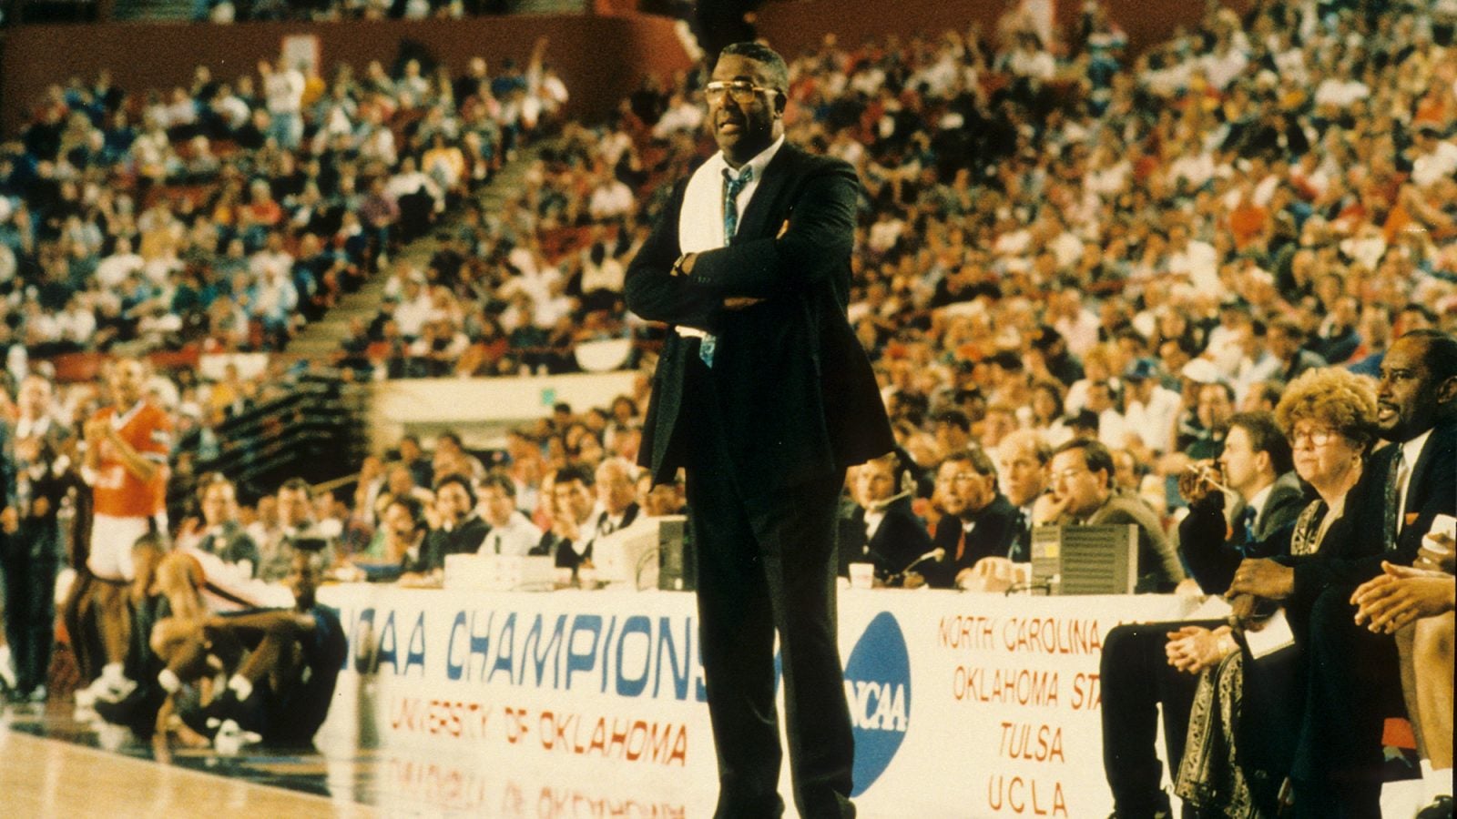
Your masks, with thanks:
[{"label": "dark suit jacket of the standing man with crossed arms", "polygon": [[[766,166],[733,242],[672,275],[683,179],[627,271],[627,305],[648,321],[717,335],[711,370],[689,367],[699,342],[669,332],[643,428],[640,463],[657,481],[689,466],[704,412],[720,414],[740,491],[763,498],[890,452],[874,373],[845,307],[860,181],[832,157],[785,143]],[[763,302],[727,310],[727,297]],[[711,383],[695,383],[696,379]],[[711,388],[711,389],[705,389]],[[704,398],[717,395],[717,407]]]}]

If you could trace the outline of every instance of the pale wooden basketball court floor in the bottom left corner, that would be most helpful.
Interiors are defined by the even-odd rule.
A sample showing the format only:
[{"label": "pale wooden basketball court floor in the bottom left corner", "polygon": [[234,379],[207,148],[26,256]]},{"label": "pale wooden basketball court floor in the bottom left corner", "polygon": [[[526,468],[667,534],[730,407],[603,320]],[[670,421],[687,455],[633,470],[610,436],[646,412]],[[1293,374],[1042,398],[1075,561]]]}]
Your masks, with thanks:
[{"label": "pale wooden basketball court floor in the bottom left corner", "polygon": [[[319,752],[160,751],[127,729],[76,723],[70,707],[0,713],[0,816],[356,818],[379,816],[376,765]],[[390,815],[436,815],[398,802]]]}]

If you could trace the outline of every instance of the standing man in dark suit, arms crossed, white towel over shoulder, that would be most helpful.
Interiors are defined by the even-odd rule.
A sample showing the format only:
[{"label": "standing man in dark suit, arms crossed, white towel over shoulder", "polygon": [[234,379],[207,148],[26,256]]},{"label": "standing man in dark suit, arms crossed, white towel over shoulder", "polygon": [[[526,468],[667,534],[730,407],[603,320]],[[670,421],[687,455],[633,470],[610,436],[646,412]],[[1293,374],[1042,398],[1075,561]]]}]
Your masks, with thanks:
[{"label": "standing man in dark suit, arms crossed, white towel over shoulder", "polygon": [[627,275],[638,316],[675,325],[641,463],[688,475],[718,815],[778,816],[774,637],[804,816],[851,816],[854,739],[835,632],[845,468],[893,447],[849,322],[860,181],[784,143],[788,70],[724,48],[705,89],[721,149],[680,182]]}]

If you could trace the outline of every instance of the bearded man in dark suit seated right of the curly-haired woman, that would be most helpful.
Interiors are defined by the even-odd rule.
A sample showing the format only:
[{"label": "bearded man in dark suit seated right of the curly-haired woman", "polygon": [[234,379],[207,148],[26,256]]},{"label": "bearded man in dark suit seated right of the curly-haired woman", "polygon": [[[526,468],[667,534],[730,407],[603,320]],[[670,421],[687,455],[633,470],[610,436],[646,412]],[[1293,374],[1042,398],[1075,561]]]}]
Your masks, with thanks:
[{"label": "bearded man in dark suit seated right of the curly-haired woman", "polygon": [[1355,624],[1351,595],[1410,565],[1437,514],[1457,514],[1457,340],[1412,331],[1381,361],[1377,427],[1391,442],[1371,456],[1346,501],[1351,535],[1303,558],[1246,560],[1230,593],[1287,600],[1307,644],[1308,688],[1295,764],[1300,816],[1380,816],[1381,730],[1400,713],[1396,646]]}]

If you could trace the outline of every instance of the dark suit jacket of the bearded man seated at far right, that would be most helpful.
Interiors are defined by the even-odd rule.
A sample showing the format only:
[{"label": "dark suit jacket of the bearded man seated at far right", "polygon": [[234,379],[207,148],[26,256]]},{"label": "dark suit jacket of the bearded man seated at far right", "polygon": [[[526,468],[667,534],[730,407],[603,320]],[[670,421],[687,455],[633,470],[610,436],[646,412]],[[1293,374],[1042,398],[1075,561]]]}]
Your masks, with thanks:
[{"label": "dark suit jacket of the bearded man seated at far right", "polygon": [[1422,536],[1432,529],[1438,514],[1457,514],[1457,423],[1432,430],[1422,455],[1412,465],[1406,488],[1407,523],[1396,551],[1386,552],[1386,478],[1397,447],[1387,444],[1367,459],[1361,481],[1346,498],[1345,519],[1352,525],[1346,535],[1321,544],[1320,554],[1285,558],[1295,567],[1291,609],[1308,609],[1327,586],[1355,587],[1381,573],[1381,561],[1410,565],[1422,546]]}]

